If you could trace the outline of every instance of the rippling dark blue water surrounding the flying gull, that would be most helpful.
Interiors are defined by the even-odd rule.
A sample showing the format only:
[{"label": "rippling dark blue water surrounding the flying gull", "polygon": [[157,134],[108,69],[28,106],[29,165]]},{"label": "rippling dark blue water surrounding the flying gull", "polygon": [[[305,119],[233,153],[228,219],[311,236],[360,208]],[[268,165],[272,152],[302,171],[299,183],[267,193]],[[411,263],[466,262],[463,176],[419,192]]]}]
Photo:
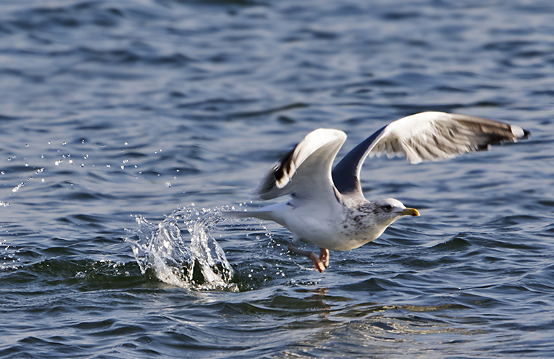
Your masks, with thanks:
[{"label": "rippling dark blue water surrounding the flying gull", "polygon": [[[0,2],[0,357],[554,355],[551,1]],[[317,127],[524,142],[374,158],[404,218],[326,273],[226,221]],[[182,209],[181,209],[182,208]],[[305,248],[311,248],[305,246]]]}]

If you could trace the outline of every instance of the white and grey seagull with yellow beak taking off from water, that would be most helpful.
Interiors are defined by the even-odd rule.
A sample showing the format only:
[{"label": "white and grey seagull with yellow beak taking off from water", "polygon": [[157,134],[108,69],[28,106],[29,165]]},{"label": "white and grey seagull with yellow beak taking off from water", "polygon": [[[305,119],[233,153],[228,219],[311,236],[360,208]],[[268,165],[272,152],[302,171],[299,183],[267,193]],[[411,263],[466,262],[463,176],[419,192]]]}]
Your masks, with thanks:
[{"label": "white and grey seagull with yellow beak taking off from water", "polygon": [[[404,156],[412,164],[444,160],[487,150],[500,142],[516,142],[530,133],[503,122],[443,112],[422,112],[400,118],[377,130],[332,169],[346,134],[316,129],[279,160],[253,192],[253,199],[290,196],[288,201],[258,210],[229,211],[229,217],[253,217],[282,225],[292,233],[291,252],[305,255],[319,272],[329,266],[329,250],[351,250],[377,239],[403,216],[419,216],[397,199],[368,201],[359,175],[366,157],[383,153]],[[319,247],[319,257],[294,247],[297,241]]]}]

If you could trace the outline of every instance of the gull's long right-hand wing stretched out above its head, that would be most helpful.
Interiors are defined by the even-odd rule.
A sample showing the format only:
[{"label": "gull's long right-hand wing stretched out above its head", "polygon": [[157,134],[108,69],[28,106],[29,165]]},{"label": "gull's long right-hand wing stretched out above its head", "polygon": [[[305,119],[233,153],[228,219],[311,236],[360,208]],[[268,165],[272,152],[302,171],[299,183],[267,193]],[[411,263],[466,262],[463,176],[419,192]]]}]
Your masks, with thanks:
[{"label": "gull's long right-hand wing stretched out above its head", "polygon": [[[332,178],[341,194],[362,195],[359,173],[366,156],[405,156],[410,163],[443,160],[489,145],[526,138],[515,125],[473,116],[422,112],[386,125],[352,149],[334,167]],[[362,195],[363,196],[363,195]]]}]

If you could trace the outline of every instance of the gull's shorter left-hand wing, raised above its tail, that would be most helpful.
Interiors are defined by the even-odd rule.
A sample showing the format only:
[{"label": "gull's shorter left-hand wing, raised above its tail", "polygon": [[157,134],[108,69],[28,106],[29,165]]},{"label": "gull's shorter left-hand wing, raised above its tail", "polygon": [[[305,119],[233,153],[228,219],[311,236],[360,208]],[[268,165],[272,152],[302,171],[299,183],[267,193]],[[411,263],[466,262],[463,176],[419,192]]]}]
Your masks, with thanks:
[{"label": "gull's shorter left-hand wing, raised above its tail", "polygon": [[334,196],[331,166],[346,140],[337,129],[316,129],[278,161],[253,193],[258,199],[295,194],[300,198]]}]

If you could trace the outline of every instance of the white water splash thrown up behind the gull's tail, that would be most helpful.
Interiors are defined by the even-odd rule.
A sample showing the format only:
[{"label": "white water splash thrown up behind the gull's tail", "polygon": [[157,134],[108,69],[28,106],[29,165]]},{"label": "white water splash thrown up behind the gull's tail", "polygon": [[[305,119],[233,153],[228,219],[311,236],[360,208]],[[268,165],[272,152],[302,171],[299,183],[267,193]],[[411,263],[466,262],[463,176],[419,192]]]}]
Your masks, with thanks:
[{"label": "white water splash thrown up behind the gull's tail", "polygon": [[[190,243],[181,235],[181,220],[190,234]],[[238,291],[231,283],[233,268],[210,236],[223,220],[220,210],[197,210],[194,206],[175,210],[158,225],[139,216],[139,229],[126,241],[142,273],[154,270],[162,282],[197,290]]]}]

